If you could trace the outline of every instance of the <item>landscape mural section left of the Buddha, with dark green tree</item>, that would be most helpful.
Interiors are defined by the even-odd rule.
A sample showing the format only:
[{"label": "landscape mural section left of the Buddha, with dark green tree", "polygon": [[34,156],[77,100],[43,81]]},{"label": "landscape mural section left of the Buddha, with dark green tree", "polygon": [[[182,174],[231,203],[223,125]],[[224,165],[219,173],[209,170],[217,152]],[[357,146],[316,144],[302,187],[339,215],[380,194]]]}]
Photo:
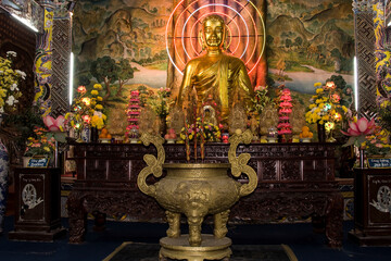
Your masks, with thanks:
[{"label": "landscape mural section left of the Buddha, with dark green tree", "polygon": [[103,86],[112,134],[126,128],[130,90],[166,86],[165,26],[172,1],[77,2],[73,21],[76,85]]}]

